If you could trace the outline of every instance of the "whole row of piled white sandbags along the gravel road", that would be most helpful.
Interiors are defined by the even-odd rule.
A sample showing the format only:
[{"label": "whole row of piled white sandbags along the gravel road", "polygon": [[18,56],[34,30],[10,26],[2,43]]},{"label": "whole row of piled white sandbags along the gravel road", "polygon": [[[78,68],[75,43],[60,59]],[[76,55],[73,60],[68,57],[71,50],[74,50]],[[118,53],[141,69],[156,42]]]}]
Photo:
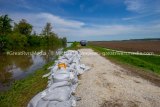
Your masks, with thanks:
[{"label": "whole row of piled white sandbags along the gravel road", "polygon": [[[80,52],[68,50],[50,67],[47,89],[34,96],[28,107],[74,107],[77,97],[74,96],[78,85],[78,75],[89,67],[80,64]],[[63,64],[65,66],[59,66]]]}]

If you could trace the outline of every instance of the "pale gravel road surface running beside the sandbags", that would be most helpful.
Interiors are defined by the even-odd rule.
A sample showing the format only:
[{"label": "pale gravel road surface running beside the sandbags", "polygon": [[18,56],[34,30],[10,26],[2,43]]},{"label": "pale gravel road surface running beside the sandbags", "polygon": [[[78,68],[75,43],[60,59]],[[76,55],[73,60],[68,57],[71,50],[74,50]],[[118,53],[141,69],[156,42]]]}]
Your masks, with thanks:
[{"label": "pale gravel road surface running beside the sandbags", "polygon": [[81,63],[91,69],[80,77],[77,107],[160,107],[159,86],[128,73],[91,49],[80,52]]}]

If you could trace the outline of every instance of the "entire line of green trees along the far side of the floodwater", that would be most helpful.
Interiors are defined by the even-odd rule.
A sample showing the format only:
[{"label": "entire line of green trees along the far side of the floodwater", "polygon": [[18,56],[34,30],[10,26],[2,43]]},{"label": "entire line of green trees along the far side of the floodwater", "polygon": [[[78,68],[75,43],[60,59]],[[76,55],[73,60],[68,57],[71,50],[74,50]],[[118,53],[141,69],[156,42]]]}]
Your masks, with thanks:
[{"label": "entire line of green trees along the far side of the floodwater", "polygon": [[33,32],[33,26],[25,19],[18,23],[8,15],[0,16],[0,52],[40,46],[66,46],[66,37],[60,38],[52,31],[51,23],[46,23],[41,34]]}]

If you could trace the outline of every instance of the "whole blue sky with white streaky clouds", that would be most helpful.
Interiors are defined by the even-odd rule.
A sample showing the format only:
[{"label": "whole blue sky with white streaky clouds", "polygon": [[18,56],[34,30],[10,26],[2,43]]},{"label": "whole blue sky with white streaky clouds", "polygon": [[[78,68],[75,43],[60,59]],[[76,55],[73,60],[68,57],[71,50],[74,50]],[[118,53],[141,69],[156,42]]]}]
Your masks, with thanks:
[{"label": "whole blue sky with white streaky clouds", "polygon": [[0,15],[47,22],[68,41],[160,38],[160,0],[0,0]]}]

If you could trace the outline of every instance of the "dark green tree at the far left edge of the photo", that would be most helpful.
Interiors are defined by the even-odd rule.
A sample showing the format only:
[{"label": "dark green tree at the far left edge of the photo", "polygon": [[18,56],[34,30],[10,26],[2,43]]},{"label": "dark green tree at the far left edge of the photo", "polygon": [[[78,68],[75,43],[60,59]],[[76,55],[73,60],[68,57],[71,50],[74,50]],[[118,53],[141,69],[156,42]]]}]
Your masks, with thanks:
[{"label": "dark green tree at the far left edge of the photo", "polygon": [[0,35],[6,35],[12,31],[11,22],[12,19],[8,15],[0,16]]}]

